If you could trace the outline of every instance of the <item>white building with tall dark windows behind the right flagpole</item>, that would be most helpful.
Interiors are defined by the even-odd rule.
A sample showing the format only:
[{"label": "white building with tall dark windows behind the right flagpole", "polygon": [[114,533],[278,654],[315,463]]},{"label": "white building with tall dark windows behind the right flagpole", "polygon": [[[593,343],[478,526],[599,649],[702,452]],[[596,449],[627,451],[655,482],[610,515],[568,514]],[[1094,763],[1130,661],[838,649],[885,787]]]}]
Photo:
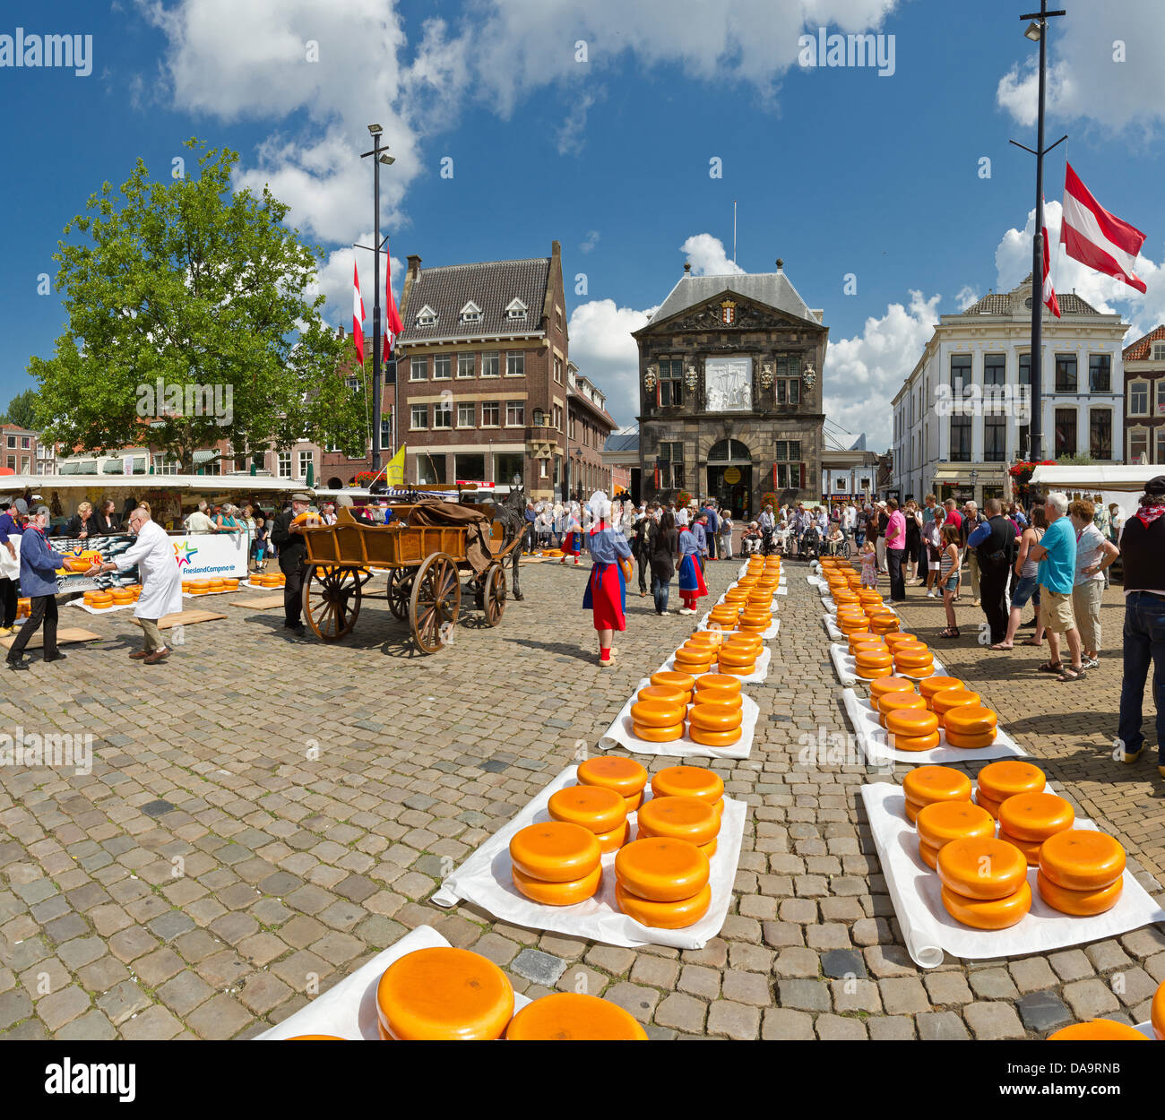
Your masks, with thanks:
[{"label": "white building with tall dark windows behind the right flagpole", "polygon": [[[1129,324],[1074,292],[1044,312],[1044,459],[1121,462],[1122,340]],[[922,499],[1008,497],[1008,468],[1030,458],[1031,279],[942,316],[894,398],[894,488]]]}]

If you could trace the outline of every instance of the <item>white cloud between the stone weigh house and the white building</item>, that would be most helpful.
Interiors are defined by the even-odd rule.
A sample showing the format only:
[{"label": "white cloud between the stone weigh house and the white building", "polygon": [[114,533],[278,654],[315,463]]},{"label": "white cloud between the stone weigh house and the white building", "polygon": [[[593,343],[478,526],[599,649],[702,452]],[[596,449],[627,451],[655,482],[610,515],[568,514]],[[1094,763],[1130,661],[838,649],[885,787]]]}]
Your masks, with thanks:
[{"label": "white cloud between the stone weigh house and the white building", "polygon": [[825,355],[825,411],[847,431],[866,432],[870,451],[885,451],[892,438],[890,402],[915,368],[939,321],[941,296],[910,292],[910,304],[890,304],[881,319],[866,320],[862,333],[829,342]]}]

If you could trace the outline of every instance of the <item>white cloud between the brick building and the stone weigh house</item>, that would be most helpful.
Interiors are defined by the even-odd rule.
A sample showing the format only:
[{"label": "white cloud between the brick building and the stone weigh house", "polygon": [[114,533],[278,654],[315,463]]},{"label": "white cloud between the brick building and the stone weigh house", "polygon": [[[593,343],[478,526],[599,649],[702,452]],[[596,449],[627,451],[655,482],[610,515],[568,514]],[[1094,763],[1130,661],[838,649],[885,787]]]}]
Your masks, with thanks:
[{"label": "white cloud between the brick building and the stone weigh house", "polygon": [[621,426],[640,411],[640,349],[631,332],[645,326],[655,310],[592,299],[571,312],[571,361],[607,395],[607,411]]}]

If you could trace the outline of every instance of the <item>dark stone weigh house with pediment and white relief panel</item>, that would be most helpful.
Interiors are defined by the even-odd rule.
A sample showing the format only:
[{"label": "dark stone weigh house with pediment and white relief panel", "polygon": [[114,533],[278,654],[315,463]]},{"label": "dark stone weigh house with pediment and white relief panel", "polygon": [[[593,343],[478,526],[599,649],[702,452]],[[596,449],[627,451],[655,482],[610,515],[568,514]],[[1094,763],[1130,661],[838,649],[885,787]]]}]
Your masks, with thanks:
[{"label": "dark stone weigh house with pediment and white relief panel", "polygon": [[691,265],[640,348],[642,495],[711,495],[755,518],[763,495],[821,492],[821,368],[829,329],[784,274],[693,276]]}]

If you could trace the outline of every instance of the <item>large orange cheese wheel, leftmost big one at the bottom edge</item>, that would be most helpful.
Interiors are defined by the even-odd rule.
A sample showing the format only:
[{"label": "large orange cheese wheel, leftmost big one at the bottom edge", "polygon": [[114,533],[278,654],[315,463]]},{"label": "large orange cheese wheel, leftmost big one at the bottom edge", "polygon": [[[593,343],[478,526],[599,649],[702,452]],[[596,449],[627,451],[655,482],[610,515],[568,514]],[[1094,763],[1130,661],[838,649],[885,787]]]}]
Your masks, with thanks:
[{"label": "large orange cheese wheel, leftmost big one at the bottom edge", "polygon": [[394,1039],[499,1039],[513,1014],[514,988],[506,973],[467,949],[405,954],[376,985],[376,1015]]}]

